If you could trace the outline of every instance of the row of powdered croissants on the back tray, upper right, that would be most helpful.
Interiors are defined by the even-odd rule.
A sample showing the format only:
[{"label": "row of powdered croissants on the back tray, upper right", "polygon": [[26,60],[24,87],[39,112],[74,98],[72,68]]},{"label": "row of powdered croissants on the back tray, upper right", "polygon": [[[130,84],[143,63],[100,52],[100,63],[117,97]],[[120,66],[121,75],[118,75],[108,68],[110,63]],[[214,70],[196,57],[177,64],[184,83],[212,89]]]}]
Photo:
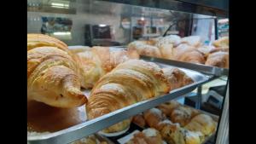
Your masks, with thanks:
[{"label": "row of powdered croissants on the back tray, upper right", "polygon": [[140,55],[229,68],[229,37],[221,37],[206,46],[199,36],[170,35],[135,41],[128,45],[128,49],[137,49]]}]

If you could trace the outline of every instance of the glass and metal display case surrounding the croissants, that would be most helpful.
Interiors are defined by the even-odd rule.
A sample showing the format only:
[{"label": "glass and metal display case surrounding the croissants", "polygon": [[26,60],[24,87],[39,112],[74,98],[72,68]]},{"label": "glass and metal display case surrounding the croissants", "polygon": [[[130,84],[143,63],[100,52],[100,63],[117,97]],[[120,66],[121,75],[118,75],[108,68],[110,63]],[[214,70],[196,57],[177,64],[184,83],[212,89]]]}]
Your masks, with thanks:
[{"label": "glass and metal display case surrounding the croissants", "polygon": [[[204,43],[212,43],[219,35],[224,35],[218,32],[228,32],[227,29],[219,30],[219,27],[223,26],[218,26],[219,19],[228,19],[228,13],[228,0],[214,2],[206,0],[29,0],[27,1],[27,33],[47,34],[67,43],[68,46],[98,45],[113,47],[113,49],[125,49],[127,44],[134,40],[147,40],[170,34],[177,34],[181,37],[190,35],[205,37],[206,35]],[[204,26],[207,28],[203,29]],[[222,99],[223,102],[221,101],[222,112],[218,115],[218,129],[215,137],[212,136],[212,142],[227,143],[224,138],[228,137],[229,69],[149,56],[141,56],[141,59],[154,62],[161,67],[179,67],[193,78],[195,83],[89,121],[86,120],[84,106],[70,111],[60,110],[63,111],[62,114],[74,112],[75,114],[71,116],[79,117],[74,118],[79,120],[74,123],[68,121],[69,124],[47,133],[29,132],[27,143],[63,144],[92,134],[98,135],[99,131],[113,124],[131,118],[149,108],[157,107],[166,101],[184,99],[193,92],[196,98],[195,108],[201,109],[202,97],[205,95],[202,93],[204,85],[220,78],[226,78],[224,79],[226,95]],[[90,95],[90,90],[86,89],[84,93]],[[53,111],[48,107],[46,109],[48,112]],[[54,109],[54,111],[59,110]],[[47,112],[45,113],[44,116],[47,115]],[[48,124],[43,124],[46,122],[56,124],[55,121],[44,121],[47,116],[40,118],[40,123],[42,123],[39,124],[40,126],[47,127]],[[29,118],[29,123],[33,123],[34,120]],[[28,131],[33,130],[28,128]],[[102,139],[108,143],[113,142],[106,136],[102,136]]]}]

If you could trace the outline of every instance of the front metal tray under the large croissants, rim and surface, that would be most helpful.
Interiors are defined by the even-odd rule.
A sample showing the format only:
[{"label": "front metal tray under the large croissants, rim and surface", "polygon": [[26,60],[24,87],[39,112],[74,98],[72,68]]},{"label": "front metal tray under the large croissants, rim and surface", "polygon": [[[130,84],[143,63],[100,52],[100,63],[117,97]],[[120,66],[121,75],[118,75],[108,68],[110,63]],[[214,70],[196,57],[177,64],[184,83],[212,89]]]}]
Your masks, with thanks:
[{"label": "front metal tray under the large croissants, rim and surface", "polygon": [[[160,63],[159,63],[160,64]],[[160,65],[168,66],[168,65]],[[156,107],[166,101],[171,101],[181,95],[185,95],[193,91],[198,85],[207,83],[211,80],[211,76],[204,75],[200,72],[195,72],[183,69],[195,83],[186,85],[179,89],[172,90],[169,94],[160,95],[146,101],[140,101],[129,107],[121,108],[117,111],[110,112],[102,117],[86,121],[85,107],[78,107],[73,109],[58,109],[54,107],[45,106],[39,108],[32,108],[33,112],[28,119],[28,125],[40,123],[34,128],[38,128],[38,132],[50,131],[50,133],[42,135],[27,135],[28,143],[40,144],[64,144],[79,140],[87,135],[94,134],[103,130],[113,124],[116,124],[126,118],[131,118],[137,113],[144,112],[149,108]],[[90,90],[84,91],[87,95]],[[42,104],[40,104],[42,105]],[[29,113],[29,112],[28,112]],[[34,117],[37,116],[37,117]],[[37,131],[36,129],[34,129]]]}]

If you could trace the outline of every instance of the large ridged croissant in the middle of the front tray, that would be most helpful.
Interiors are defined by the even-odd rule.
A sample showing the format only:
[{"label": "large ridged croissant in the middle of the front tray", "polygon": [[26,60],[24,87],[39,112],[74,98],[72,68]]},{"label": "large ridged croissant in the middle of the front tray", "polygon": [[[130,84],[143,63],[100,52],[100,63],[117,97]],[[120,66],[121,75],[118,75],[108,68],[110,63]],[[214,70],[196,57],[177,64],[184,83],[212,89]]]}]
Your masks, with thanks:
[{"label": "large ridged croissant in the middle of the front tray", "polygon": [[[89,119],[97,118],[137,101],[167,93],[170,89],[171,85],[159,66],[144,60],[127,60],[96,83],[91,90],[86,112]],[[124,127],[106,131],[109,133],[120,131],[130,123],[131,119],[128,119]]]}]

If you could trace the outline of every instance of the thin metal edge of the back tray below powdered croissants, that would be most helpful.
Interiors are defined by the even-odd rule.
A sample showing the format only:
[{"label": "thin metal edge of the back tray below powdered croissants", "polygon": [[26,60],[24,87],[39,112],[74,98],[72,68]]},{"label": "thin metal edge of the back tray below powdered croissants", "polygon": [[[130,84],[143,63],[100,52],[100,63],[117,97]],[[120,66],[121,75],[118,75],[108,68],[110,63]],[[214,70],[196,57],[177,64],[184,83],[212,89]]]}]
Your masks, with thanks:
[{"label": "thin metal edge of the back tray below powdered croissants", "polygon": [[203,72],[203,73],[210,74],[217,77],[229,75],[229,69],[216,67],[216,66],[206,66],[206,65],[194,64],[194,63],[177,61],[177,60],[160,59],[160,58],[155,58],[155,57],[150,57],[145,55],[141,55],[141,59],[153,61],[153,62],[159,62],[166,65],[183,67],[189,70],[195,70],[197,72]]}]

